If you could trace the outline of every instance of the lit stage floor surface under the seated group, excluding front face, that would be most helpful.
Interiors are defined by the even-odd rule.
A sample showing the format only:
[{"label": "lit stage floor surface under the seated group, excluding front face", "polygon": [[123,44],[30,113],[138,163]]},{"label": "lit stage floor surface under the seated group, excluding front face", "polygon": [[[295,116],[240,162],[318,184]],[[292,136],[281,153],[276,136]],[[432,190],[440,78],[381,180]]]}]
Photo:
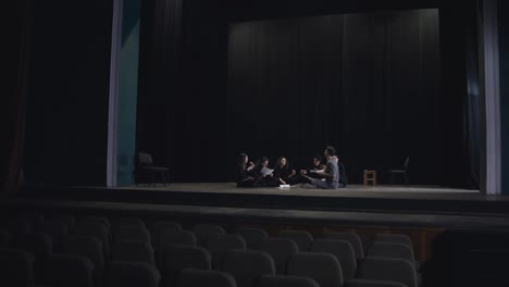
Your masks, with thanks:
[{"label": "lit stage floor surface under the seated group, excluding front face", "polygon": [[85,201],[278,210],[425,214],[506,214],[509,198],[438,186],[361,186],[335,190],[237,188],[235,183],[172,183],[133,187],[24,187],[21,197]]}]

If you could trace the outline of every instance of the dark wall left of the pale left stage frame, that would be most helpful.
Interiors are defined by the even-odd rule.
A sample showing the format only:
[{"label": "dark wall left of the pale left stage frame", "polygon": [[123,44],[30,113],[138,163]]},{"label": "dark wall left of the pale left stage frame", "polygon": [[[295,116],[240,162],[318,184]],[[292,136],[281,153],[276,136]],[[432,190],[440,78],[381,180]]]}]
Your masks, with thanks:
[{"label": "dark wall left of the pale left stage frame", "polygon": [[103,186],[112,0],[34,2],[25,180]]}]

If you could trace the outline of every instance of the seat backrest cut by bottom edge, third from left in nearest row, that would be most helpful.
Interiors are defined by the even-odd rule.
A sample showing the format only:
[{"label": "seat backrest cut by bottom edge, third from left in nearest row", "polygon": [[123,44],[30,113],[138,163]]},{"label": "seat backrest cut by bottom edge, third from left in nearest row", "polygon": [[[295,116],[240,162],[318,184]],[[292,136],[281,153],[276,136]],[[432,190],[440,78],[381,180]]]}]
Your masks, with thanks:
[{"label": "seat backrest cut by bottom edge, third from left in nearest row", "polygon": [[108,287],[158,287],[159,271],[150,264],[133,261],[111,261],[108,264],[105,286]]}]

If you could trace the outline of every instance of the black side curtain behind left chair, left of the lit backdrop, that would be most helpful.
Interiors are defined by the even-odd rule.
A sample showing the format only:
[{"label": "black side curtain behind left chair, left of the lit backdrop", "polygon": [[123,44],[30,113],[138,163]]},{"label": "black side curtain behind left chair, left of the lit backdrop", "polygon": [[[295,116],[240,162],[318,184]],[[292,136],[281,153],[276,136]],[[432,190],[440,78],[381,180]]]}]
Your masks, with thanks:
[{"label": "black side curtain behind left chair, left of the lit backdrop", "polygon": [[233,175],[224,159],[226,33],[215,1],[141,2],[137,150],[169,166],[172,180]]}]

